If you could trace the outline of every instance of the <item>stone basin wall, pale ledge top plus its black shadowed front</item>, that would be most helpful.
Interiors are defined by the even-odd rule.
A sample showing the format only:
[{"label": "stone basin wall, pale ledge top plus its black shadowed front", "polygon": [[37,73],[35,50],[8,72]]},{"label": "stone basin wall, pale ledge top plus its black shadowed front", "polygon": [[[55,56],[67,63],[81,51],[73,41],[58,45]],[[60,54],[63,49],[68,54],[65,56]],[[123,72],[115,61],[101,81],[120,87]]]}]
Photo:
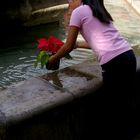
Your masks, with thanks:
[{"label": "stone basin wall, pale ledge top plus its black shadowed front", "polygon": [[101,85],[100,66],[88,60],[2,90],[0,140],[81,140]]}]

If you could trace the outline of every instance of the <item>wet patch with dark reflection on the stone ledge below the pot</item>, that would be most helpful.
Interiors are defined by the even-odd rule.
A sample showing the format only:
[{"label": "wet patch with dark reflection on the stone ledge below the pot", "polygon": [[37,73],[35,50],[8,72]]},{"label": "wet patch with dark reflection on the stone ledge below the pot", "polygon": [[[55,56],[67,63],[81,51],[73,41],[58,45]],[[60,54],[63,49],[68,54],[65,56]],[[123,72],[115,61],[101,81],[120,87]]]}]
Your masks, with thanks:
[{"label": "wet patch with dark reflection on the stone ledge below the pot", "polygon": [[71,84],[70,82],[76,82],[79,79],[83,79],[84,82],[90,81],[94,78],[97,78],[96,75],[91,75],[88,73],[84,73],[81,71],[77,71],[73,68],[67,67],[65,69],[62,69],[60,71],[55,71],[53,73],[48,73],[45,75],[42,75],[41,78],[49,81],[50,83],[54,84],[58,87],[69,87]]}]

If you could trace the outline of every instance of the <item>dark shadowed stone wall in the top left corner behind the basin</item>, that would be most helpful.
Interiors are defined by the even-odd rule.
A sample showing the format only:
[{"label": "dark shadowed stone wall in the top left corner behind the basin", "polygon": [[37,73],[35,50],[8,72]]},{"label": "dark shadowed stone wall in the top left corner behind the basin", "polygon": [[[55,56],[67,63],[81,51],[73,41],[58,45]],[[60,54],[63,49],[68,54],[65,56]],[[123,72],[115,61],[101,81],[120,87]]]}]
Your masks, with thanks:
[{"label": "dark shadowed stone wall in the top left corner behind the basin", "polygon": [[66,2],[66,0],[6,0],[1,5],[0,17],[3,19],[3,22],[7,20],[25,21],[29,19],[31,13],[35,10],[64,4]]}]

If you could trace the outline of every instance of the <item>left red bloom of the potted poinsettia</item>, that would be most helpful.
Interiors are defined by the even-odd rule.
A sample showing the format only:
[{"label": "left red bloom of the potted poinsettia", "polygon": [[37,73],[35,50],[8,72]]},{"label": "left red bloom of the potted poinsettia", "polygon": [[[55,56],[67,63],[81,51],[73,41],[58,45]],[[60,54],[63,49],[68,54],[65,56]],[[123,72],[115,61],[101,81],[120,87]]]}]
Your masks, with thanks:
[{"label": "left red bloom of the potted poinsettia", "polygon": [[37,48],[40,51],[48,51],[48,49],[49,49],[49,42],[45,38],[40,38],[37,41],[39,43]]}]

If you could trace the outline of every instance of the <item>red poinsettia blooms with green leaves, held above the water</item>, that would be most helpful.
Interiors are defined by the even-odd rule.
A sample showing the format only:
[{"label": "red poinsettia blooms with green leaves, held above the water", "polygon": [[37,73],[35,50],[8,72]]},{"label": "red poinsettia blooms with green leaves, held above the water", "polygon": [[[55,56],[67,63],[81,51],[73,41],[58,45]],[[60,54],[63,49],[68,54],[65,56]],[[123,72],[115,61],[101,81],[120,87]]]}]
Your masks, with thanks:
[{"label": "red poinsettia blooms with green leaves, held above the water", "polygon": [[[57,51],[64,45],[64,42],[54,36],[50,36],[48,40],[46,38],[40,38],[37,40],[37,42],[37,49],[39,49],[39,54],[36,58],[34,66],[37,67],[38,63],[41,63],[41,68],[44,66],[47,68],[49,57],[57,53]],[[72,57],[70,54],[68,54],[66,58],[71,59]],[[56,65],[54,65],[54,67],[51,69],[59,69],[59,64],[60,60],[56,61]]]}]

